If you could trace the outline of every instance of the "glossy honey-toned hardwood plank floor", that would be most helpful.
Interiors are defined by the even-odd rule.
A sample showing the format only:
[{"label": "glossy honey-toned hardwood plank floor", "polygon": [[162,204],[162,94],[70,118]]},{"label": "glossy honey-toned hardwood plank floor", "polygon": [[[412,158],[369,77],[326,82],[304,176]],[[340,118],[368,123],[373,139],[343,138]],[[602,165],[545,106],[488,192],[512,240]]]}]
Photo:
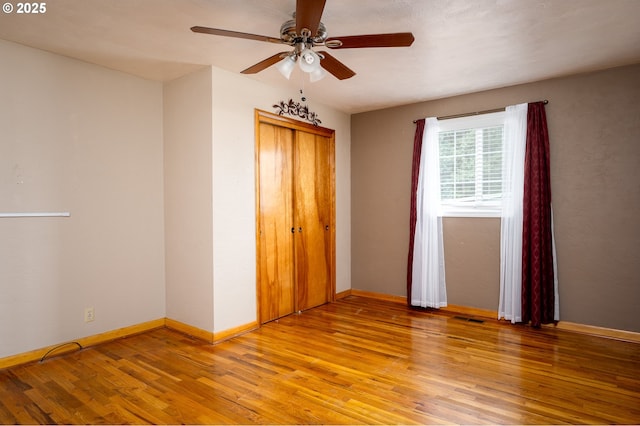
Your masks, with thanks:
[{"label": "glossy honey-toned hardwood plank floor", "polygon": [[640,345],[362,297],[0,370],[0,423],[640,423]]}]

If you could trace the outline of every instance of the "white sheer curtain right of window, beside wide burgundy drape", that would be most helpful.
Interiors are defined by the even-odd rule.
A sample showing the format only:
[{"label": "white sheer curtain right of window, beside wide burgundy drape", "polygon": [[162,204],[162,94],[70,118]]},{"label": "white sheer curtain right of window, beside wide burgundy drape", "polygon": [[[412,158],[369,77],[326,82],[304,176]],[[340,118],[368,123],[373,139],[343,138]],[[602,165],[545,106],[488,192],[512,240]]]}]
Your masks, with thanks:
[{"label": "white sheer curtain right of window, beside wide burgundy drape", "polygon": [[522,321],[522,199],[528,104],[506,108],[502,156],[498,319]]}]

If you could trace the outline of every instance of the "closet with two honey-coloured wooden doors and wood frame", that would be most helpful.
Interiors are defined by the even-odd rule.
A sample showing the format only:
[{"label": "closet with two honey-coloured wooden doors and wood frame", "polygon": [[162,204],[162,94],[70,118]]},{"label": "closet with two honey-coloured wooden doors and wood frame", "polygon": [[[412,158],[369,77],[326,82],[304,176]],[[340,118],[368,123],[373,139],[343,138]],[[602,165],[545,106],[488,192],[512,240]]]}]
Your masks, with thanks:
[{"label": "closet with two honey-coloured wooden doors and wood frame", "polygon": [[261,324],[335,297],[334,131],[256,110]]}]

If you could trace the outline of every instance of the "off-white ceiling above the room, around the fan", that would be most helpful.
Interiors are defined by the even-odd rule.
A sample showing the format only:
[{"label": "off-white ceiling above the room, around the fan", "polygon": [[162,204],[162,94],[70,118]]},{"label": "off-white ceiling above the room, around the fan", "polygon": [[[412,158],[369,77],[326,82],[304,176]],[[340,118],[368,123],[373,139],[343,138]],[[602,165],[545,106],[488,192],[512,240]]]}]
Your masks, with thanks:
[{"label": "off-white ceiling above the room, around the fan", "polygon": [[[15,0],[3,0],[17,6]],[[295,0],[45,0],[0,13],[0,38],[153,80],[202,65],[240,72],[287,46],[190,31],[279,37]],[[250,76],[357,113],[640,62],[640,0],[327,0],[329,36],[410,31],[411,47],[333,50],[357,75],[303,83]],[[0,66],[1,66],[0,58]]]}]

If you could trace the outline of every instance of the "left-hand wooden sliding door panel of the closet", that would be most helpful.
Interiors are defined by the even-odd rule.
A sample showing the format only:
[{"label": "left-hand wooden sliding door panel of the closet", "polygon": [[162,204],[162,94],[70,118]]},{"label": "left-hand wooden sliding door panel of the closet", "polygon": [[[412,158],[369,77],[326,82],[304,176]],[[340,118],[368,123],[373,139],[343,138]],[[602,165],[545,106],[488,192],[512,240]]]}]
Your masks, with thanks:
[{"label": "left-hand wooden sliding door panel of the closet", "polygon": [[259,298],[260,322],[294,312],[293,137],[290,129],[260,123]]}]

